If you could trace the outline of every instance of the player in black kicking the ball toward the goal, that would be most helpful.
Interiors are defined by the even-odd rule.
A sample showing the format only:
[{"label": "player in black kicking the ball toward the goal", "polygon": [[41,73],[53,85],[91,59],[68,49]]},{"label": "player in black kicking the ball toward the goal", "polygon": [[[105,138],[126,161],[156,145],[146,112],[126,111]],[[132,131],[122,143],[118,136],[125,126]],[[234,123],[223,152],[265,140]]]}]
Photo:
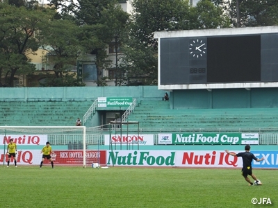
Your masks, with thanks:
[{"label": "player in black kicking the ball toward the goal", "polygon": [[245,178],[245,180],[249,183],[250,186],[253,185],[251,180],[249,179],[248,175],[251,175],[251,177],[258,183],[261,184],[256,176],[252,173],[252,160],[259,162],[263,160],[263,157],[261,159],[258,159],[255,157],[253,153],[250,153],[250,145],[245,146],[245,152],[243,153],[229,153],[229,150],[225,150],[225,152],[229,155],[236,156],[236,157],[243,157],[243,169],[241,170],[241,174]]}]

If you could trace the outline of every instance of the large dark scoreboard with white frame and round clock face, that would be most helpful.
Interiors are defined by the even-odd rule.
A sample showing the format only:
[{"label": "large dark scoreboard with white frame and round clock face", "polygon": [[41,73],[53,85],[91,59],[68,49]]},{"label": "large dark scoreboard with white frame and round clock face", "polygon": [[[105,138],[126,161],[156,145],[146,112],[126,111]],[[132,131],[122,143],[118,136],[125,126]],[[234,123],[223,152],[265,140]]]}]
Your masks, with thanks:
[{"label": "large dark scoreboard with white frame and round clock face", "polygon": [[156,32],[158,89],[278,87],[278,26]]}]

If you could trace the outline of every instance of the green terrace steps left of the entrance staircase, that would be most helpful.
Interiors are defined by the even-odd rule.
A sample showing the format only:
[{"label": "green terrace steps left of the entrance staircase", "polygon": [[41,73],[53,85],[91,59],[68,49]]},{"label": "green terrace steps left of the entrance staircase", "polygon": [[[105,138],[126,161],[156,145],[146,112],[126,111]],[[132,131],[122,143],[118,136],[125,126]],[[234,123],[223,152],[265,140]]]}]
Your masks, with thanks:
[{"label": "green terrace steps left of the entrance staircase", "polygon": [[77,117],[87,112],[92,103],[92,101],[0,102],[0,113],[3,115],[0,125],[70,126],[75,124]]}]

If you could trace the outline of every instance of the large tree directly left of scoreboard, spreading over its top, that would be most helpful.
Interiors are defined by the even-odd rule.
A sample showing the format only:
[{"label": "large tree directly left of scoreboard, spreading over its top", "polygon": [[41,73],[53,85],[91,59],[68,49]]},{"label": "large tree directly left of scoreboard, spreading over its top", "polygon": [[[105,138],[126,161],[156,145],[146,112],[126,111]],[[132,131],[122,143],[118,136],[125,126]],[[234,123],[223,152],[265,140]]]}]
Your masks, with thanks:
[{"label": "large tree directly left of scoreboard, spreading over its top", "polygon": [[190,7],[188,1],[134,0],[129,39],[124,47],[128,85],[157,84],[156,31],[177,31],[228,26],[222,9],[204,0]]}]

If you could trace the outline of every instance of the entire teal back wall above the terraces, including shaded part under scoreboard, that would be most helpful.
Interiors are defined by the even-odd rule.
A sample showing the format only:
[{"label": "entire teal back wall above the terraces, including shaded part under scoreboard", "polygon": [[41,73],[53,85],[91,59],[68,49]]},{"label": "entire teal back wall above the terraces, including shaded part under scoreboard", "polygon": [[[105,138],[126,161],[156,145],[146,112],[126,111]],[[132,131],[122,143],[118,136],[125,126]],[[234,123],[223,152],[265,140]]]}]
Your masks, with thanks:
[{"label": "entire teal back wall above the terraces, including shaded part under scoreboard", "polygon": [[[139,101],[162,99],[157,86],[131,87],[0,87],[0,101],[95,101],[97,97],[131,96]],[[278,107],[278,88],[179,89],[170,92],[172,109]]]}]

